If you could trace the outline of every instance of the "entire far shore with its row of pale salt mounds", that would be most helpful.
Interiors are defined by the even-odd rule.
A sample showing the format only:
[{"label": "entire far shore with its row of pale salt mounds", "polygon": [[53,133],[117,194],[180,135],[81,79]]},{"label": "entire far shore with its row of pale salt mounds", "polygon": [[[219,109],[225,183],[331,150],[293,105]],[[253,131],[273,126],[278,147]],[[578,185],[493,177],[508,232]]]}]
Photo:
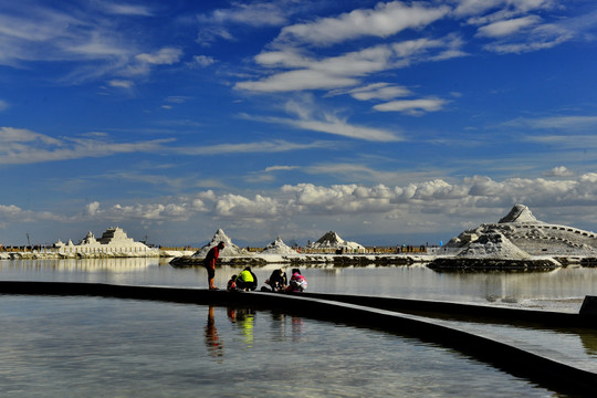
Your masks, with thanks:
[{"label": "entire far shore with its row of pale salt mounds", "polygon": [[175,268],[201,266],[219,242],[222,265],[289,264],[296,266],[369,266],[425,263],[437,271],[547,271],[561,266],[597,266],[597,234],[574,227],[538,221],[524,205],[516,205],[500,221],[465,230],[441,248],[396,248],[391,252],[366,249],[329,231],[305,248],[291,248],[281,238],[260,251],[240,248],[219,229],[197,251],[164,250],[135,242],[112,227],[96,240],[92,232],[78,243],[61,241],[52,248],[0,252],[2,260],[60,260],[104,258],[167,258]]}]

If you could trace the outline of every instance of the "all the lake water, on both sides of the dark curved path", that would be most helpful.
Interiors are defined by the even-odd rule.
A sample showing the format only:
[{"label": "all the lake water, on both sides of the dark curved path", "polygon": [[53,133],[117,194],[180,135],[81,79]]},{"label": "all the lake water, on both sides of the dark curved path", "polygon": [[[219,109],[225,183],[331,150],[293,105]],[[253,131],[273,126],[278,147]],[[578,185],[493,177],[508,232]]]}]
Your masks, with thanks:
[{"label": "all the lake water, on both sides of the dark curved path", "polygon": [[[277,268],[255,268],[260,285]],[[240,268],[218,269],[224,286]],[[437,273],[306,268],[308,291],[577,312],[597,270]],[[206,287],[206,271],[154,259],[0,261],[0,280]],[[268,311],[97,297],[0,296],[0,396],[552,397],[418,339]],[[597,336],[493,327],[597,359]],[[526,336],[526,337],[525,337]],[[562,346],[562,344],[564,344]]]}]

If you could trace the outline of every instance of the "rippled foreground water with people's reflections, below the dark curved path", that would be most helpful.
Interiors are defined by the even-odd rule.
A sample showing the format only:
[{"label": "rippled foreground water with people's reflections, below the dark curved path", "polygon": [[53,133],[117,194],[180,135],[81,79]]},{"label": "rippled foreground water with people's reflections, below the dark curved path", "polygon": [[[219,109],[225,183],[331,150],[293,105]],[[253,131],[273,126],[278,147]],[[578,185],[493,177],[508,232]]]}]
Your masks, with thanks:
[{"label": "rippled foreground water with people's reflections, below the dark curved path", "polygon": [[417,339],[268,311],[3,296],[2,397],[549,397]]}]

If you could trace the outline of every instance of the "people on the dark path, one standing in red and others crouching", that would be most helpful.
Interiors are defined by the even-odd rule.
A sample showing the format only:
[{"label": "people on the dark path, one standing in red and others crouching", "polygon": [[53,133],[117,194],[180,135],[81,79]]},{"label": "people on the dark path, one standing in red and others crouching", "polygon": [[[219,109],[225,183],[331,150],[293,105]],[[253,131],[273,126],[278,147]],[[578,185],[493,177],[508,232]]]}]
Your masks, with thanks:
[{"label": "people on the dark path, one standing in red and others crouching", "polygon": [[[213,284],[213,277],[216,276],[216,263],[220,256],[220,251],[226,247],[224,242],[218,243],[218,245],[211,248],[203,260],[203,265],[208,272],[209,290],[218,290]],[[266,292],[304,292],[307,287],[305,277],[301,274],[301,270],[293,269],[290,281],[283,269],[272,272],[270,277],[265,280],[265,284],[270,287],[263,286],[261,291]],[[258,277],[251,271],[250,266],[244,268],[238,275],[232,275],[228,281],[227,291],[254,291],[258,287]]]}]

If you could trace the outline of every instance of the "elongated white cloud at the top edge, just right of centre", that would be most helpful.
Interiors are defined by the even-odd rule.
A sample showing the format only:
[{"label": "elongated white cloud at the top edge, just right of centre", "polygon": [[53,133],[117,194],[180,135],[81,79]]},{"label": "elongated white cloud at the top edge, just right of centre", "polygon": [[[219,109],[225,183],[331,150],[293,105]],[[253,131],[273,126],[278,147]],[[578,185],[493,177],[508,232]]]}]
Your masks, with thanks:
[{"label": "elongated white cloud at the top edge, just right of centre", "polygon": [[329,45],[362,36],[388,38],[405,29],[418,29],[448,14],[448,7],[407,6],[400,1],[378,3],[375,9],[354,10],[337,18],[298,23],[282,29],[277,42]]}]

